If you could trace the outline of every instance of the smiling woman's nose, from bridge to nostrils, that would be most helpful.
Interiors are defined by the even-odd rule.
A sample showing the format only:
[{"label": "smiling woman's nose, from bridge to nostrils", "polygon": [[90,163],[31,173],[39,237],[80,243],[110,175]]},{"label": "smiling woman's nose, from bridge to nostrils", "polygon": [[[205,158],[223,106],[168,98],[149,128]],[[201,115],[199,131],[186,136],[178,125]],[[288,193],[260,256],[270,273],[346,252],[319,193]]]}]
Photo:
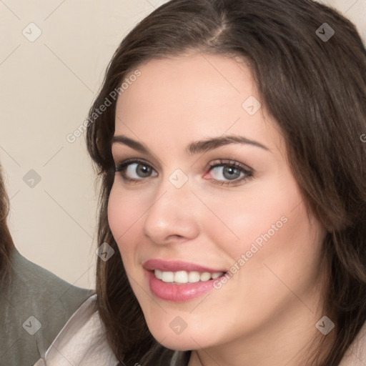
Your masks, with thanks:
[{"label": "smiling woman's nose, from bridge to nostrils", "polygon": [[155,244],[185,242],[199,234],[197,198],[189,182],[177,188],[164,179],[144,217],[144,235]]}]

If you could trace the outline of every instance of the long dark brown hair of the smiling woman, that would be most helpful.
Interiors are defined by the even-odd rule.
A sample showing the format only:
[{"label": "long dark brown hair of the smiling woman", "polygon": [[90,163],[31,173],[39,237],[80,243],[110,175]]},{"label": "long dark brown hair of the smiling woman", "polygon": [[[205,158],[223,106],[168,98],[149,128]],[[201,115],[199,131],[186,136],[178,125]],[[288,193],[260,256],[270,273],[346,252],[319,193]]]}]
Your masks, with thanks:
[{"label": "long dark brown hair of the smiling woman", "polygon": [[[328,40],[316,33],[325,33],[325,23],[335,31]],[[249,62],[308,207],[327,228],[324,310],[336,327],[317,365],[336,366],[366,320],[366,144],[360,139],[366,52],[355,26],[337,11],[310,0],[172,0],[137,24],[115,52],[89,112],[90,122],[106,98],[112,102],[87,129],[102,178],[99,244],[118,251],[107,221],[114,180],[111,92],[142,63],[189,50]],[[148,358],[144,365],[157,365],[154,355],[172,355],[150,334],[119,255],[98,260],[97,295],[109,342],[125,365]]]}]

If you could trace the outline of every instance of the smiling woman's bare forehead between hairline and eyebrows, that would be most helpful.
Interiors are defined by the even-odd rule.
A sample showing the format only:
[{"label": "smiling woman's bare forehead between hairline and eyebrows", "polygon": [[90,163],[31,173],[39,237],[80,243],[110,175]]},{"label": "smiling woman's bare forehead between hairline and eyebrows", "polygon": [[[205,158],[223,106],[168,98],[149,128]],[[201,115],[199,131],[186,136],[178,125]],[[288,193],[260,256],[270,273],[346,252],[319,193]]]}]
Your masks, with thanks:
[{"label": "smiling woman's bare forehead between hairline and eyebrows", "polygon": [[244,61],[188,54],[152,59],[137,69],[141,75],[117,101],[116,134],[132,132],[172,146],[225,132],[264,142],[273,127],[264,105],[248,113],[248,103],[260,102],[260,96]]}]

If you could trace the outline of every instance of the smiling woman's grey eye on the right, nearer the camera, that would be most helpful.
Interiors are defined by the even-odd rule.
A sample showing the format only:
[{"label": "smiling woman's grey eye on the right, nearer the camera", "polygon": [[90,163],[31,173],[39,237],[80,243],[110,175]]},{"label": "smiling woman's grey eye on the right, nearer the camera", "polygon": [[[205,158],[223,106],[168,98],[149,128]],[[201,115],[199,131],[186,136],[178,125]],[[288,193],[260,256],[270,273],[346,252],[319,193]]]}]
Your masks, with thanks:
[{"label": "smiling woman's grey eye on the right, nearer the camera", "polygon": [[209,167],[209,174],[217,181],[214,184],[237,184],[253,177],[252,170],[239,162],[219,160],[209,164]]}]

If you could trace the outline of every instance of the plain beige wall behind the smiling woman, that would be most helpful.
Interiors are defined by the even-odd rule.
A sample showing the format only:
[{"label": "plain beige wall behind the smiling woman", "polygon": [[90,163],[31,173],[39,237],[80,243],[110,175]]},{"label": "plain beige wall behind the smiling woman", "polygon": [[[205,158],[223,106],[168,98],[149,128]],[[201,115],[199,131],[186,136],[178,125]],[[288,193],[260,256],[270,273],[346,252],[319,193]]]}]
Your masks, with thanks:
[{"label": "plain beige wall behind the smiling woman", "polygon": [[[123,36],[164,2],[0,0],[0,162],[11,232],[21,254],[81,287],[94,287],[97,199],[84,136],[66,137],[84,122]],[[366,0],[323,2],[366,39]]]}]

